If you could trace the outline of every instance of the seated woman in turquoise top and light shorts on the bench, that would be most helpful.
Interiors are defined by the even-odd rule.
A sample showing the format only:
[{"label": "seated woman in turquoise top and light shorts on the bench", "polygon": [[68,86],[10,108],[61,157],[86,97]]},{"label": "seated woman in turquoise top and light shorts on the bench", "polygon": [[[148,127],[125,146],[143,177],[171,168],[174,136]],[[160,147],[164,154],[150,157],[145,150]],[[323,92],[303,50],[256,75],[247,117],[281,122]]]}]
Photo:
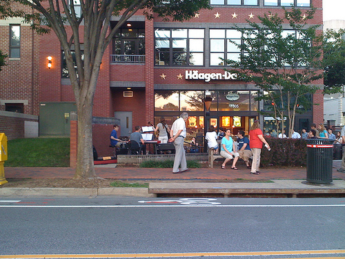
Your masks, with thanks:
[{"label": "seated woman in turquoise top and light shorts on the bench", "polygon": [[238,170],[236,167],[236,162],[238,160],[239,153],[236,153],[235,143],[231,137],[230,129],[225,131],[225,136],[221,139],[220,155],[225,158],[223,164],[221,164],[221,169],[226,169],[226,163],[232,160],[234,157],[231,169]]}]

